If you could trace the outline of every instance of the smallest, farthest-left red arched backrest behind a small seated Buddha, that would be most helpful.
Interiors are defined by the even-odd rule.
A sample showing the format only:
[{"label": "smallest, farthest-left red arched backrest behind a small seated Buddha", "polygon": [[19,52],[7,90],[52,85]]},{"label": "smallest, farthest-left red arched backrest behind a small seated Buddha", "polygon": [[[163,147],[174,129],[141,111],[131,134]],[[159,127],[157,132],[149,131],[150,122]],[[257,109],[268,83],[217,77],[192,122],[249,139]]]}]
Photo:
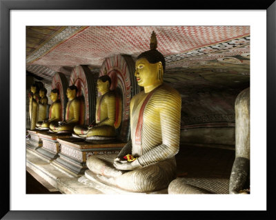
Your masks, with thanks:
[{"label": "smallest, farthest-left red arched backrest behind a small seated Buddha", "polygon": [[61,120],[65,120],[67,96],[66,90],[68,88],[68,80],[62,72],[57,72],[52,79],[52,90],[57,88],[59,90],[59,99],[61,101]]}]

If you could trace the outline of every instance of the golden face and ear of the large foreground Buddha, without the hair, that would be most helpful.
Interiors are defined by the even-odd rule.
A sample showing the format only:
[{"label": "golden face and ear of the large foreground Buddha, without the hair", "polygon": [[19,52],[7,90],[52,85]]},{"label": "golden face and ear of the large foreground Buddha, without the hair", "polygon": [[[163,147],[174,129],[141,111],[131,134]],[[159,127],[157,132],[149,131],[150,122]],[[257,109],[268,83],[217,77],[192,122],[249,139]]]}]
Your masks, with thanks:
[{"label": "golden face and ear of the large foreground Buddha, without the hair", "polygon": [[[162,63],[149,63],[146,58],[140,58],[135,63],[135,77],[139,86],[151,86],[158,83],[158,72],[162,69]],[[163,77],[163,75],[161,76]]]}]

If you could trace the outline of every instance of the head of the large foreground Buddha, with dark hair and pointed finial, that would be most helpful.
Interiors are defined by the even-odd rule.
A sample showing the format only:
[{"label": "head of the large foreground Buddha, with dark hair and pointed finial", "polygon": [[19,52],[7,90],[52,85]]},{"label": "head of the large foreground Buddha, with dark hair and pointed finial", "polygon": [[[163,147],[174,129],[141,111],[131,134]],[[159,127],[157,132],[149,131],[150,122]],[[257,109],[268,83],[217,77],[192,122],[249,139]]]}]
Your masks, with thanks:
[{"label": "head of the large foreground Buddha, with dark hair and pointed finial", "polygon": [[142,52],[135,62],[135,77],[139,86],[147,87],[163,83],[166,62],[163,54],[156,50],[157,39],[152,32],[150,50]]}]

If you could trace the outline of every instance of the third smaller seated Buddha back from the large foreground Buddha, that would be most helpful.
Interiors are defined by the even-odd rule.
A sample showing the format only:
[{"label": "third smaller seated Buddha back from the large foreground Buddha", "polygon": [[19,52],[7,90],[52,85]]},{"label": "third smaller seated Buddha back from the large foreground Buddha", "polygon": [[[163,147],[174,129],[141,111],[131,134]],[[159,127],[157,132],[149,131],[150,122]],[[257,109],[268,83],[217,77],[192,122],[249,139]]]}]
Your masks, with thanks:
[{"label": "third smaller seated Buddha back from the large foreground Buddha", "polygon": [[47,121],[39,121],[37,122],[37,128],[39,130],[48,130],[50,127],[50,123],[52,121],[60,121],[61,120],[61,102],[58,99],[59,90],[56,88],[51,90],[50,99],[52,100],[52,105],[49,109],[49,119]]}]

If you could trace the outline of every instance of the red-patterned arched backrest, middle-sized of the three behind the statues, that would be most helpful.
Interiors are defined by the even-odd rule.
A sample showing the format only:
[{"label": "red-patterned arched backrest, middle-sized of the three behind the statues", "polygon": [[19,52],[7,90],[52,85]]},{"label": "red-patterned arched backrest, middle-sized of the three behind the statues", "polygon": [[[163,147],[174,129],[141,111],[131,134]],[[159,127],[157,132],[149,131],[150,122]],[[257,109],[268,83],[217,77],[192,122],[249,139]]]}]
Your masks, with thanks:
[{"label": "red-patterned arched backrest, middle-sized of the three behind the statues", "polygon": [[77,97],[83,101],[80,124],[88,125],[95,120],[96,90],[94,76],[87,66],[75,66],[72,69],[69,86],[72,85],[77,86]]}]

